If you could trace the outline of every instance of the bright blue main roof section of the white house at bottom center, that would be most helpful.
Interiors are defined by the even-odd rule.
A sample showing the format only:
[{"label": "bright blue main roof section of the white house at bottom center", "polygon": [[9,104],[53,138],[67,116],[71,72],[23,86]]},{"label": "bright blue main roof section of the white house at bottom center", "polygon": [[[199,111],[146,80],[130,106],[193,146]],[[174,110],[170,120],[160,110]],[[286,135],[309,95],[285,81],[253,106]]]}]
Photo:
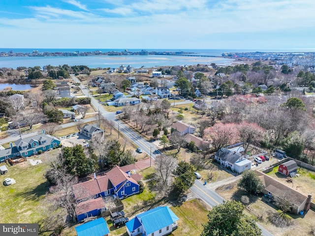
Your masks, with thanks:
[{"label": "bright blue main roof section of the white house at bottom center", "polygon": [[152,234],[179,220],[168,206],[158,206],[157,208],[136,215],[136,217],[141,219],[142,225],[147,235]]}]

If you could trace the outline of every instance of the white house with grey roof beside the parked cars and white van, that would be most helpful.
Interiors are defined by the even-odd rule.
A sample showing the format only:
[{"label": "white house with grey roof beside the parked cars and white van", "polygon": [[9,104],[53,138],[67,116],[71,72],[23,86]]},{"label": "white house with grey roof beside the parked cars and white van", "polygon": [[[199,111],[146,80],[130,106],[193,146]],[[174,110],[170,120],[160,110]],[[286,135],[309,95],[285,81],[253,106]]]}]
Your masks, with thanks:
[{"label": "white house with grey roof beside the parked cars and white van", "polygon": [[225,168],[229,167],[232,171],[242,173],[246,169],[251,169],[252,162],[241,152],[244,152],[243,147],[234,147],[231,149],[221,147],[215,154],[215,160]]}]

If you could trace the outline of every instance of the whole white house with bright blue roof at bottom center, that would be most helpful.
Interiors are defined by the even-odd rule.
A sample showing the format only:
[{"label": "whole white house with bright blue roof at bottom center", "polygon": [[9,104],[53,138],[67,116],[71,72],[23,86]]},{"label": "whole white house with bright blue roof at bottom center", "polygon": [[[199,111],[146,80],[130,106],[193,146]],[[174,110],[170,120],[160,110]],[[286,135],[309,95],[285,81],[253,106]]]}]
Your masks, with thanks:
[{"label": "whole white house with bright blue roof at bottom center", "polygon": [[168,206],[158,206],[138,214],[126,223],[129,236],[165,236],[177,229],[179,218]]}]

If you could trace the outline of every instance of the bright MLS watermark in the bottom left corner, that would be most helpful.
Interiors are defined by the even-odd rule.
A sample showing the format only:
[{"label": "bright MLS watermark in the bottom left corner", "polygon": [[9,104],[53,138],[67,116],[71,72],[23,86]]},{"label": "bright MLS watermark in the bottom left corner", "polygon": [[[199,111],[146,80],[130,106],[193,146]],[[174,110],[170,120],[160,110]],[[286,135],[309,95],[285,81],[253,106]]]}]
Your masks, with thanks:
[{"label": "bright MLS watermark in the bottom left corner", "polygon": [[38,236],[38,224],[0,224],[0,236]]}]

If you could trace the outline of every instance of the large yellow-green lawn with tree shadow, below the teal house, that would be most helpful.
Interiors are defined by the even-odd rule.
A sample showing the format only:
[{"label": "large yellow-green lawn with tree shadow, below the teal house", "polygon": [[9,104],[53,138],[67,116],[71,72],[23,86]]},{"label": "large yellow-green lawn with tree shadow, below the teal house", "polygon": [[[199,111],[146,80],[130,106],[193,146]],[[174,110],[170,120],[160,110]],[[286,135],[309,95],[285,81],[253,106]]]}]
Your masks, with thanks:
[{"label": "large yellow-green lawn with tree shadow, below the teal house", "polygon": [[50,158],[58,153],[59,149],[43,153],[37,157],[43,163],[36,166],[32,166],[30,162],[7,166],[8,172],[1,175],[1,181],[10,177],[16,183],[0,186],[0,222],[36,223],[43,218],[47,210],[44,198],[49,187],[44,173],[48,169]]}]

